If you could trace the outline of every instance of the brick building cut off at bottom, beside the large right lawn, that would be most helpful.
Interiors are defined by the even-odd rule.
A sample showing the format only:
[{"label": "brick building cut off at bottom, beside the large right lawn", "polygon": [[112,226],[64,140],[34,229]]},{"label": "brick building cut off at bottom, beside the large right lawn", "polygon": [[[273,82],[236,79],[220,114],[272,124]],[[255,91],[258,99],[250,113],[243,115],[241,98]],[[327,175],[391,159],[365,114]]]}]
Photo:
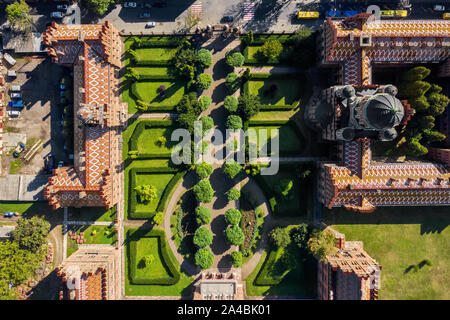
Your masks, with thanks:
[{"label": "brick building cut off at bottom, beside the large right lawn", "polygon": [[377,300],[381,266],[363,250],[361,241],[335,234],[335,254],[318,261],[317,298],[320,300]]}]

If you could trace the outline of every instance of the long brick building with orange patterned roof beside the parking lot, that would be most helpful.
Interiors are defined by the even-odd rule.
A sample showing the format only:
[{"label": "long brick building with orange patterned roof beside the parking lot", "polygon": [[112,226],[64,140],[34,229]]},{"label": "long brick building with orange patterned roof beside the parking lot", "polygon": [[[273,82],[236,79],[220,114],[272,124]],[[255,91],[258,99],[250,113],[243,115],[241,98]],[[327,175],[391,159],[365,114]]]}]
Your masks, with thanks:
[{"label": "long brick building with orange patterned roof beside the parking lot", "polygon": [[74,74],[74,166],[55,169],[44,196],[54,209],[111,208],[119,200],[120,127],[127,120],[119,91],[119,32],[108,22],[52,23],[43,39],[53,61],[73,67]]}]

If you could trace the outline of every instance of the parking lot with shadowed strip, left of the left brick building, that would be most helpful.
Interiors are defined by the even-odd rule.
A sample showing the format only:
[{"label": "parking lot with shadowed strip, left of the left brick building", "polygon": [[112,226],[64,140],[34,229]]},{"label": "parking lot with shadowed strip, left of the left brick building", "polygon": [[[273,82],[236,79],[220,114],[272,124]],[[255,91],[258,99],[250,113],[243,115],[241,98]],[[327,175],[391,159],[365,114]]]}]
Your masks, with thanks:
[{"label": "parking lot with shadowed strip, left of the left brick building", "polygon": [[10,148],[9,152],[5,150],[2,172],[44,173],[44,157],[50,154],[56,161],[63,160],[68,163],[69,159],[64,150],[65,139],[61,123],[63,108],[60,104],[58,87],[60,79],[69,70],[43,57],[19,58],[16,65],[9,70],[15,70],[16,77],[6,78],[6,88],[11,88],[12,85],[20,86],[23,108],[20,110],[7,107],[7,111],[20,110],[20,115],[8,117],[4,131],[12,141],[15,141],[14,135],[17,135],[19,140],[24,141],[27,149],[37,144],[39,140],[42,141],[42,146],[30,161],[23,161],[23,155],[27,150],[20,155],[20,160],[12,155],[11,149],[14,147]]}]

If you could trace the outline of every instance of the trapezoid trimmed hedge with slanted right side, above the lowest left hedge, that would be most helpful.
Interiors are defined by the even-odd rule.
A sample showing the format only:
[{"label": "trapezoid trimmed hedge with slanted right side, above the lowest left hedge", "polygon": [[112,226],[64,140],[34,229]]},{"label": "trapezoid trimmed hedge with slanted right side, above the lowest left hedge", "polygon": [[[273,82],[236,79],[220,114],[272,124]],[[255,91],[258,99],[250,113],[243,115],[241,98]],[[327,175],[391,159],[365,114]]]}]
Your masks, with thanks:
[{"label": "trapezoid trimmed hedge with slanted right side, above the lowest left hedge", "polygon": [[[136,211],[136,191],[134,191],[134,188],[136,187],[136,174],[137,173],[175,173],[174,177],[169,181],[166,188],[163,191],[162,197],[159,200],[158,207],[156,208],[155,212],[137,212]],[[169,194],[172,192],[172,189],[175,187],[175,185],[180,181],[180,179],[186,174],[186,171],[178,171],[178,169],[174,168],[166,168],[166,167],[149,167],[149,168],[132,168],[129,171],[130,174],[130,181],[131,186],[129,188],[129,216],[131,219],[141,219],[143,218],[142,215],[145,215],[145,218],[152,218],[156,212],[158,211],[164,211],[164,208],[166,206],[166,202],[168,200]],[[147,215],[148,214],[148,215]]]}]

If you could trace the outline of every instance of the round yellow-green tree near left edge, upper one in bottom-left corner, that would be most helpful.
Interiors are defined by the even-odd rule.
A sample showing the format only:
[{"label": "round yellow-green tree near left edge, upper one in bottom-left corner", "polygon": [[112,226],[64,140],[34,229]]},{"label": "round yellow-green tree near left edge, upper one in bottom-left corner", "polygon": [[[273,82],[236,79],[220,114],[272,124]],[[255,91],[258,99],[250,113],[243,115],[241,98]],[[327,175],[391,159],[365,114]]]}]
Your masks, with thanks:
[{"label": "round yellow-green tree near left edge, upper one in bottom-left corner", "polygon": [[19,219],[12,235],[21,249],[38,251],[46,243],[49,231],[50,223],[44,218],[34,216],[30,219]]}]

